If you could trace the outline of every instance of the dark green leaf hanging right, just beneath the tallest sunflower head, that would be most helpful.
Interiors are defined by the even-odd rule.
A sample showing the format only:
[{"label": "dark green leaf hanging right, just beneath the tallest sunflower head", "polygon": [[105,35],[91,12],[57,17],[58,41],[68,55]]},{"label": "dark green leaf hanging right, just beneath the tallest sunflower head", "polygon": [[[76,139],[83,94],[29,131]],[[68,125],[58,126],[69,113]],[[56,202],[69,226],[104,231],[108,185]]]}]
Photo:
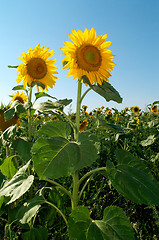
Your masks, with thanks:
[{"label": "dark green leaf hanging right, just beneath the tallest sunflower head", "polygon": [[89,87],[94,90],[96,93],[105,98],[107,102],[110,100],[115,101],[117,103],[122,103],[122,98],[119,93],[111,86],[110,83],[103,81],[102,85],[91,85],[88,78],[86,76],[82,77],[83,82],[87,83]]}]

